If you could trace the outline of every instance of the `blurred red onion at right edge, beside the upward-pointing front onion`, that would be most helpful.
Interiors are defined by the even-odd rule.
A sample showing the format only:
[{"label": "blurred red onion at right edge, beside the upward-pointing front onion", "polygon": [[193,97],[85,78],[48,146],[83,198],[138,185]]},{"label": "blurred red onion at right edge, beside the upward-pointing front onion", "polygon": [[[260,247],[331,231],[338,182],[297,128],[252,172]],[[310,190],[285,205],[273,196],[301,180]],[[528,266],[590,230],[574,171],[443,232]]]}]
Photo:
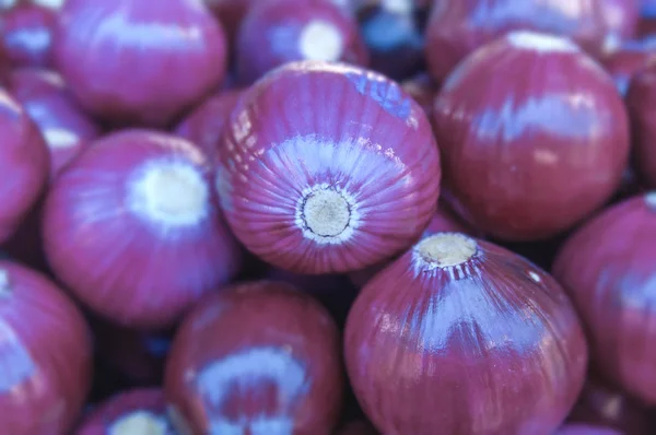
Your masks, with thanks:
[{"label": "blurred red onion at right edge, beside the upward-pointing front onion", "polygon": [[656,195],[641,195],[585,224],[553,267],[587,326],[595,366],[651,404],[656,403],[654,243]]}]

